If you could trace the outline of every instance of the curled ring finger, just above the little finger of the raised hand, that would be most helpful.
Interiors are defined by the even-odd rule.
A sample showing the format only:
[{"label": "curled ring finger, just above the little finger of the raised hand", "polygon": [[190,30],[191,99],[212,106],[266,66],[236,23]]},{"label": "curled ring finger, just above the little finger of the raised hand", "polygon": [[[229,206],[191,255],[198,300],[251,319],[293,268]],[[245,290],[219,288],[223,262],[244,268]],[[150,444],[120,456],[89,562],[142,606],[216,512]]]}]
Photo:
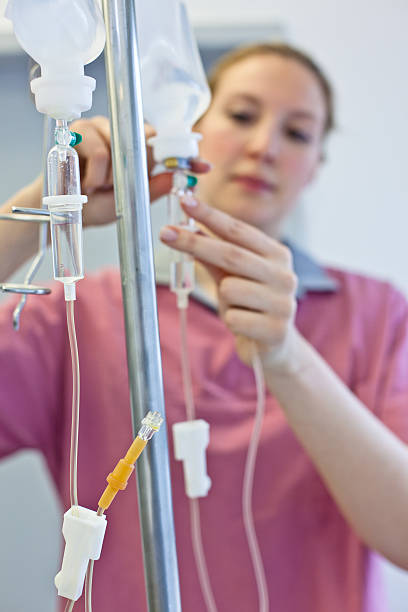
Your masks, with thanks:
[{"label": "curled ring finger, just above the little finger of the raised hand", "polygon": [[283,318],[292,318],[296,302],[287,291],[284,278],[277,274],[274,286],[243,278],[226,276],[220,283],[219,295],[227,307],[246,308]]}]

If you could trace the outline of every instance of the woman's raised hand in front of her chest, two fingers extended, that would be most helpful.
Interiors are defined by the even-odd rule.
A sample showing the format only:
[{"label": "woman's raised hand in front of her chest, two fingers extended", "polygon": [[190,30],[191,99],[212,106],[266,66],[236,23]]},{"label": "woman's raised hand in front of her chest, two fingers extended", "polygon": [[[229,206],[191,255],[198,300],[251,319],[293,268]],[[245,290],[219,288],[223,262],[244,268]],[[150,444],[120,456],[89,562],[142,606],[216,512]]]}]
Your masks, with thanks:
[{"label": "woman's raised hand in front of her chest, two fingers extended", "polygon": [[[166,226],[162,242],[189,253],[209,270],[217,285],[219,314],[236,336],[245,363],[252,362],[255,342],[264,367],[291,369],[297,278],[290,250],[195,198],[186,198],[183,208],[203,232]],[[204,233],[206,228],[211,235]]]}]

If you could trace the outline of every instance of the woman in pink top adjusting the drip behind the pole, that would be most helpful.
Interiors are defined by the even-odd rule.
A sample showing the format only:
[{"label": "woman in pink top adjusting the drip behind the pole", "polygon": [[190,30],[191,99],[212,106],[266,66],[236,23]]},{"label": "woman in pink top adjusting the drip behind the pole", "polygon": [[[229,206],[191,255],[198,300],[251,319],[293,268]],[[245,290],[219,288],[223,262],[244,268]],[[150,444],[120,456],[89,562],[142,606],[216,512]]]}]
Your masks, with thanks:
[{"label": "woman in pink top adjusting the drip behind the pole", "polygon": [[[219,610],[249,611],[257,606],[240,510],[256,401],[248,367],[255,342],[266,380],[267,409],[253,510],[271,606],[281,612],[383,610],[374,598],[378,583],[372,551],[408,569],[407,303],[387,283],[328,269],[282,242],[282,222],[319,172],[334,124],[332,90],[316,63],[287,45],[253,45],[224,57],[210,84],[212,103],[196,128],[203,135],[201,156],[212,168],[208,172],[206,162],[195,161],[194,169],[202,175],[199,189],[184,202],[202,231],[192,234],[166,226],[160,235],[163,243],[199,262],[198,281],[205,296],[191,300],[189,337],[197,414],[212,427],[208,467],[214,486],[200,504],[215,599]],[[97,117],[79,121],[73,129],[84,136],[78,153],[89,196],[85,222],[113,221],[108,122]],[[150,128],[147,131],[151,134]],[[151,167],[149,151],[148,161]],[[168,175],[150,179],[152,200],[169,188]],[[3,208],[7,211],[17,200],[39,206],[40,195],[38,180]],[[3,278],[35,249],[34,230],[7,230],[8,235],[0,225],[0,248],[7,253],[7,260],[0,258]],[[98,310],[90,317],[87,304],[95,296]],[[45,382],[46,397],[27,411],[30,377],[35,373],[37,390],[42,388],[41,377],[55,380],[48,375],[56,367],[48,352],[55,355],[57,350],[60,369],[67,359],[54,306],[48,298],[33,301],[25,315],[28,331],[17,344],[5,325],[11,306],[1,310],[0,389],[3,402],[13,410],[3,410],[0,452],[5,456],[27,445],[40,448],[63,492],[66,477],[61,474],[66,466],[60,453],[52,450],[49,419],[52,415],[65,439],[68,415],[56,410],[57,392]],[[158,287],[158,307],[171,424],[183,420],[185,413],[177,312],[174,296],[164,285]],[[128,409],[126,394],[118,386],[126,382],[117,365],[124,367],[120,360],[125,354],[123,329],[114,324],[120,311],[116,272],[80,283],[82,365],[86,368],[88,363],[93,373],[93,388],[85,390],[88,406],[83,412],[88,410],[89,417],[81,417],[81,435],[90,447],[97,443],[93,414],[99,415],[98,444],[102,438],[106,447],[126,446],[128,424],[121,429],[117,418]],[[47,340],[42,341],[38,363],[34,348],[40,338]],[[107,353],[112,379],[106,376],[109,364],[95,360],[95,355]],[[13,372],[28,373],[26,389],[18,387],[21,379],[5,374],[10,359]],[[114,399],[114,407],[107,398]],[[185,528],[188,510],[181,467],[173,461],[171,469],[183,608],[204,612]],[[92,490],[91,466],[85,461],[80,470],[86,490]],[[129,508],[122,506],[112,518],[125,550],[126,521],[134,520],[130,494],[128,500]],[[138,534],[133,535],[136,542]],[[110,589],[109,568],[123,571],[126,578],[133,553],[140,554],[137,544],[126,558],[119,544],[112,543],[108,555],[105,550],[109,562],[99,562],[100,577],[94,584],[99,612],[115,605],[131,609],[131,602],[140,600],[143,584],[136,584],[131,572],[125,592]]]}]

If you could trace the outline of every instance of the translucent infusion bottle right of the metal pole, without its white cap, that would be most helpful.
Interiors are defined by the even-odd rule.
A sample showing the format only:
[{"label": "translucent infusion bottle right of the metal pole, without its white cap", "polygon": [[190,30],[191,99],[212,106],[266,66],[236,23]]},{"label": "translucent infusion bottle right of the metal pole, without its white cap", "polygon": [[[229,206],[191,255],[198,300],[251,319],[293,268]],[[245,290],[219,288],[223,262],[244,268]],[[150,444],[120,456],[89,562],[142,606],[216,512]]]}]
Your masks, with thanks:
[{"label": "translucent infusion bottle right of the metal pole, without its white cap", "polygon": [[210,91],[184,4],[136,0],[145,119],[158,135],[190,132]]}]

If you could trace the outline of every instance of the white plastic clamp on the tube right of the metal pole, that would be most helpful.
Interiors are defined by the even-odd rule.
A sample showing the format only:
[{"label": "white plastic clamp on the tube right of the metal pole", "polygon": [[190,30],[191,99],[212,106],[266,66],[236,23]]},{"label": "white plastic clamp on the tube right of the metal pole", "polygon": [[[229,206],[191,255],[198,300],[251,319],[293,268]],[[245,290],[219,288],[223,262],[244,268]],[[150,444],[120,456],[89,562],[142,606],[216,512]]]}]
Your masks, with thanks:
[{"label": "white plastic clamp on the tube right of the metal pole", "polygon": [[174,456],[183,461],[184,486],[191,498],[205,497],[211,487],[205,451],[210,441],[210,426],[203,419],[173,425]]}]

